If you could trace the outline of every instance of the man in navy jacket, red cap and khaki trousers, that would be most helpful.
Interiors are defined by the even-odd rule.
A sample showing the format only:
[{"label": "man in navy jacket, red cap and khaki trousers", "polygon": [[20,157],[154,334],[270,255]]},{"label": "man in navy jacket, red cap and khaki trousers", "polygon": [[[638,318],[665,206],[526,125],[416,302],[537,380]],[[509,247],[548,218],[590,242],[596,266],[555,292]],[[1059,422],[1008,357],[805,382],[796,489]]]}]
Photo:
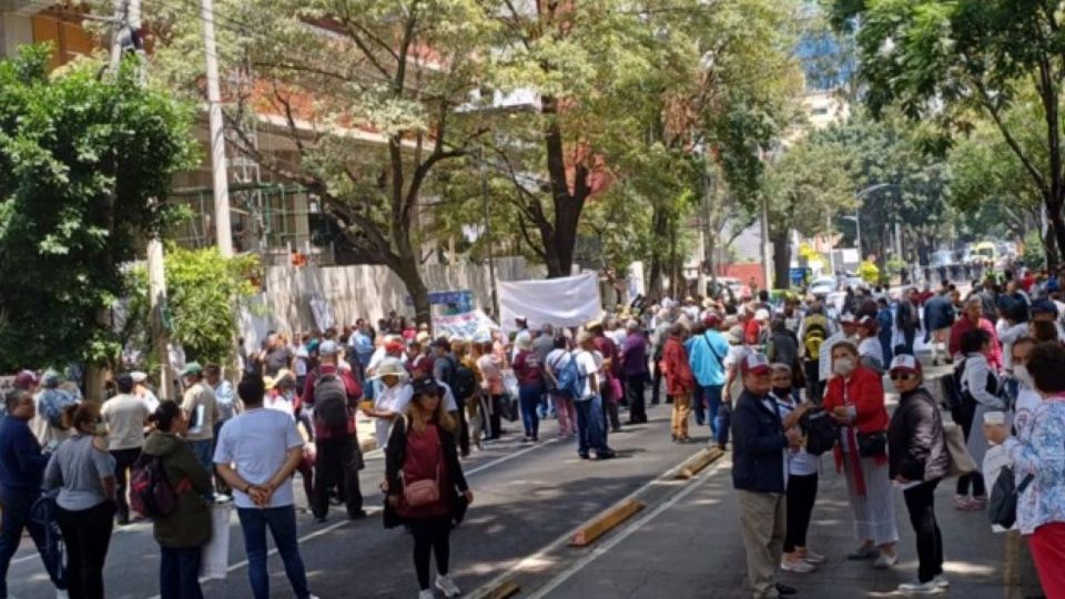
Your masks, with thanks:
[{"label": "man in navy jacket, red cap and khaki trousers", "polygon": [[740,528],[747,552],[747,577],[755,599],[794,595],[775,581],[784,548],[784,491],[789,448],[802,435],[784,430],[773,389],[769,359],[750,354],[740,363],[743,393],[732,412],[732,487],[740,502]]}]

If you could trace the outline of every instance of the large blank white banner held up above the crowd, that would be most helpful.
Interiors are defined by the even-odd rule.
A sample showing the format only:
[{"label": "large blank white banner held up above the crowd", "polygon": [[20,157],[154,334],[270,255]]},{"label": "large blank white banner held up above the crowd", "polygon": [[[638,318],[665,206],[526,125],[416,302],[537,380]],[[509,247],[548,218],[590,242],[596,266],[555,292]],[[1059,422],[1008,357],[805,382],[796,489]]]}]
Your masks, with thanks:
[{"label": "large blank white banner held up above the crowd", "polygon": [[542,281],[499,282],[499,324],[515,331],[515,317],[524,316],[530,328],[545,324],[579,326],[602,314],[599,280],[595,273]]}]

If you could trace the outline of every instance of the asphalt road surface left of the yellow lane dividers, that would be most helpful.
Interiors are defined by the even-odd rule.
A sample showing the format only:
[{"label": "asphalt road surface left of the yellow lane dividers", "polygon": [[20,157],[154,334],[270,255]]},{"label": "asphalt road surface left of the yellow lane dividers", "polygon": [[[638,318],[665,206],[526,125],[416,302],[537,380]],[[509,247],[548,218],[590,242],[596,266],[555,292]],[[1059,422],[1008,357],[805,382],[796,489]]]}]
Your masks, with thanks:
[{"label": "asphalt road surface left of the yellow lane dividers", "polygon": [[[620,457],[608,461],[577,458],[575,441],[555,439],[556,424],[546,423],[536,446],[524,446],[515,434],[489,446],[465,464],[476,494],[469,518],[453,537],[454,573],[464,588],[489,581],[605,507],[683,461],[698,446],[669,443],[666,407],[650,410],[651,423],[611,435]],[[510,430],[520,426],[510,425]],[[706,428],[703,430],[707,430]],[[507,437],[510,440],[507,440]],[[362,483],[368,508],[378,508],[376,484],[384,468],[379,455],[368,458]],[[653,486],[652,486],[653,487]],[[651,491],[657,489],[651,488]],[[371,493],[373,491],[373,493]],[[297,501],[303,502],[297,484]],[[348,522],[335,511],[324,525],[300,515],[302,551],[313,592],[322,597],[414,597],[417,586],[410,562],[412,542],[398,530],[385,530],[378,514]],[[204,585],[207,597],[251,597],[244,567],[243,539],[234,516],[231,526],[230,577]],[[118,530],[108,554],[108,597],[145,599],[159,592],[158,546],[151,528],[138,524]],[[274,597],[290,597],[280,558],[271,557]],[[16,556],[8,577],[18,599],[54,597],[43,568],[28,542]]]}]

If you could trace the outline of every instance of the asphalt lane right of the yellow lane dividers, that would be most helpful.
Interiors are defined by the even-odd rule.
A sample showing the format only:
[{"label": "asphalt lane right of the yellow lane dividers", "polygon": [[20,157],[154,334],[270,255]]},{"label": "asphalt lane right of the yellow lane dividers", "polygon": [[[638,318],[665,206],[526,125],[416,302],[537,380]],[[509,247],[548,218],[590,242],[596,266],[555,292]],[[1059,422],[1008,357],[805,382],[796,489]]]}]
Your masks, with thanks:
[{"label": "asphalt lane right of the yellow lane dividers", "polygon": [[[616,546],[586,564],[548,593],[551,598],[707,597],[743,598],[747,588],[739,506],[732,490],[730,456],[700,479],[691,495],[670,506]],[[947,596],[965,599],[1024,598],[1038,595],[1038,581],[1027,549],[1007,556],[1006,537],[994,535],[983,512],[962,512],[951,506],[954,481],[936,493],[936,516],[943,530],[944,569],[952,587]],[[875,570],[871,561],[848,561],[858,546],[852,535],[846,486],[834,471],[831,456],[822,458],[822,478],[810,527],[811,549],[829,560],[809,575],[784,575],[782,582],[799,597],[893,597],[901,582],[916,578],[913,530],[895,493],[900,542],[899,565]],[[1023,565],[1020,562],[1028,562]],[[1021,581],[1008,585],[1007,577]]]}]

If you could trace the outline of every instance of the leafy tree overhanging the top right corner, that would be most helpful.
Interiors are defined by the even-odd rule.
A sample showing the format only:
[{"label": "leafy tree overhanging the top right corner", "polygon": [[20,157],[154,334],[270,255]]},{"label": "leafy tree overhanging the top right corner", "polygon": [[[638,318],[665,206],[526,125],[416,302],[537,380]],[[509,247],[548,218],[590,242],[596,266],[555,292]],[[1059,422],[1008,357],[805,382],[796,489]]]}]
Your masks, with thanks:
[{"label": "leafy tree overhanging the top right corner", "polygon": [[[946,134],[972,129],[974,118],[993,123],[1038,190],[1057,246],[1065,248],[1065,32],[1058,4],[833,0],[831,7],[839,29],[861,23],[859,73],[873,113],[899,106]],[[1007,119],[1028,98],[1041,123],[1037,149],[1026,148],[1018,139],[1023,129]]]}]

